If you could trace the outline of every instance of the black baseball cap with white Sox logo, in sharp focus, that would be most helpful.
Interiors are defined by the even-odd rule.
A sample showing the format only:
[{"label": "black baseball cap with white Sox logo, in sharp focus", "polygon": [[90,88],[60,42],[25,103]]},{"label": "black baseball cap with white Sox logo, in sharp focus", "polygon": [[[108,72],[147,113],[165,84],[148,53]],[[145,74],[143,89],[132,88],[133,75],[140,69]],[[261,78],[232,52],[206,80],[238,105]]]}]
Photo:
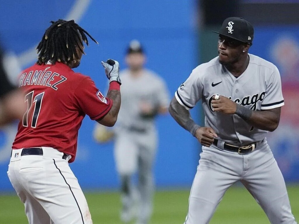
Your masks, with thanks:
[{"label": "black baseball cap with white Sox logo, in sharp focus", "polygon": [[213,32],[252,45],[253,26],[241,17],[228,17],[223,21],[219,32]]}]

